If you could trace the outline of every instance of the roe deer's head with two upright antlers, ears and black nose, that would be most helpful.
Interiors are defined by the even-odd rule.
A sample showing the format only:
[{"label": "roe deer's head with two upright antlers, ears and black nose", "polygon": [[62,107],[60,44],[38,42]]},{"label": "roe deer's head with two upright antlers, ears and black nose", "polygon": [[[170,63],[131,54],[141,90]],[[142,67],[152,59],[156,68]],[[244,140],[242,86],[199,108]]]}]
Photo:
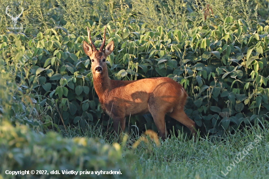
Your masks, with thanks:
[{"label": "roe deer's head with two upright antlers, ears and black nose", "polygon": [[92,43],[90,39],[90,30],[88,27],[87,27],[88,39],[91,46],[86,41],[83,41],[84,52],[90,57],[90,60],[91,60],[91,69],[92,69],[93,75],[101,74],[104,71],[107,71],[106,59],[114,50],[113,41],[111,41],[104,49],[104,46],[106,43],[106,28],[107,26],[105,27],[105,30],[104,30],[104,41],[103,41],[103,44],[100,46],[99,50],[97,50],[96,46]]}]

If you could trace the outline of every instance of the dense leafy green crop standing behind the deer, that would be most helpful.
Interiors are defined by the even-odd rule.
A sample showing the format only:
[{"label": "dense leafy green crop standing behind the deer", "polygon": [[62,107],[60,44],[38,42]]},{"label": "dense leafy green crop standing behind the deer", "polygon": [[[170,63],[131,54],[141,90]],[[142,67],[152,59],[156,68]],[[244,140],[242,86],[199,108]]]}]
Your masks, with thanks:
[{"label": "dense leafy green crop standing behind the deer", "polygon": [[[168,76],[178,81],[190,97],[185,111],[202,131],[222,135],[268,118],[269,26],[258,18],[255,5],[240,0],[130,4],[122,0],[119,5],[100,0],[21,4],[25,12],[18,23],[23,33],[0,35],[2,64],[6,70],[15,68],[18,84],[25,82],[21,90],[31,97],[43,128],[97,124],[110,129],[112,120],[102,115],[90,60],[81,45],[87,39],[86,26],[95,45],[100,45],[103,24],[108,27],[107,42],[115,43],[107,59],[110,77]],[[39,7],[44,9],[38,11]],[[28,23],[33,15],[39,18]],[[1,30],[6,31],[9,23],[2,19]],[[150,115],[127,121],[141,131],[156,130]],[[176,121],[169,124],[181,128]]]}]

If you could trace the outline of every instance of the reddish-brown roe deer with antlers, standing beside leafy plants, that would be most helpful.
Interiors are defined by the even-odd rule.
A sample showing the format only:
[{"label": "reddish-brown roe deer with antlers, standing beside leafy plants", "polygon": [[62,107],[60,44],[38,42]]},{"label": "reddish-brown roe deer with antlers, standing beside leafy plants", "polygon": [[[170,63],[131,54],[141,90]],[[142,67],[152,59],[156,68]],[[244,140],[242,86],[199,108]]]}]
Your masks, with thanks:
[{"label": "reddish-brown roe deer with antlers, standing beside leafy plants", "polygon": [[[106,47],[106,28],[104,41],[100,49],[90,39],[91,46],[84,41],[83,49],[90,57],[93,75],[93,86],[99,97],[102,108],[113,119],[116,133],[125,129],[125,117],[150,112],[159,130],[159,135],[166,138],[165,114],[188,127],[195,137],[195,122],[184,112],[187,93],[184,88],[168,77],[146,78],[134,81],[111,80],[108,75],[106,58],[114,49],[111,41]],[[105,48],[104,48],[105,47]],[[119,129],[120,128],[120,129]]]}]

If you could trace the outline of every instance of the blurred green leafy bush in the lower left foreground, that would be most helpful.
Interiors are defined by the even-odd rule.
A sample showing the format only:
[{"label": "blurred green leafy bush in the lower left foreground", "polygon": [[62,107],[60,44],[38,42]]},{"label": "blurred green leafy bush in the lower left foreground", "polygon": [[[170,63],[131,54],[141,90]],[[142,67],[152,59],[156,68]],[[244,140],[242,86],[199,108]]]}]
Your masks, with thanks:
[{"label": "blurred green leafy bush in the lower left foreground", "polygon": [[[131,157],[122,152],[117,143],[113,146],[98,139],[75,137],[63,138],[60,134],[47,134],[31,131],[21,125],[14,127],[8,122],[0,123],[0,178],[31,178],[31,179],[132,179],[132,171],[123,164],[122,156]],[[45,171],[47,175],[7,175],[8,171]],[[60,174],[50,174],[51,171]],[[77,171],[75,175],[63,175],[62,171]],[[118,175],[96,175],[95,171],[116,171]],[[94,174],[82,174],[90,171]]]}]

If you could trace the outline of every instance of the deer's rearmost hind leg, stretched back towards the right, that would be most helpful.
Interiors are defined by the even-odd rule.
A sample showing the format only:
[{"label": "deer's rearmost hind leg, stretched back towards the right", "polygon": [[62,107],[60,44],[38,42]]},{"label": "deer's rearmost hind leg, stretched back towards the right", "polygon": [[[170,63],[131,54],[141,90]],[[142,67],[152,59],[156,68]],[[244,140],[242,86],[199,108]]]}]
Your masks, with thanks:
[{"label": "deer's rearmost hind leg, stretched back towards the right", "polygon": [[189,128],[191,131],[191,134],[196,138],[196,129],[195,129],[195,122],[191,120],[187,114],[184,112],[183,109],[175,109],[173,112],[171,112],[170,115],[172,118],[179,121],[181,124]]}]

